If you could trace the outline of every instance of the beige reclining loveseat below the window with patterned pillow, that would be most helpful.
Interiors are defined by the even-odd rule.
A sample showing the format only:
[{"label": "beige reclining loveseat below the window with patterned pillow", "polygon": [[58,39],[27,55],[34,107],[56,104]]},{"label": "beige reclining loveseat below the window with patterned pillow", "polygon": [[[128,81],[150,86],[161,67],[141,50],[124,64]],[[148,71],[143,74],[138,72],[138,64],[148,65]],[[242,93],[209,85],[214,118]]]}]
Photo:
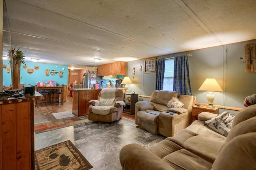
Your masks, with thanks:
[{"label": "beige reclining loveseat below the window with patterned pillow", "polygon": [[[166,104],[172,97],[178,97],[184,104],[182,108],[169,108]],[[140,101],[135,104],[135,123],[155,135],[174,136],[192,122],[192,106],[196,97],[180,95],[175,91],[154,90],[149,102]],[[170,112],[176,114],[171,115]]]}]

